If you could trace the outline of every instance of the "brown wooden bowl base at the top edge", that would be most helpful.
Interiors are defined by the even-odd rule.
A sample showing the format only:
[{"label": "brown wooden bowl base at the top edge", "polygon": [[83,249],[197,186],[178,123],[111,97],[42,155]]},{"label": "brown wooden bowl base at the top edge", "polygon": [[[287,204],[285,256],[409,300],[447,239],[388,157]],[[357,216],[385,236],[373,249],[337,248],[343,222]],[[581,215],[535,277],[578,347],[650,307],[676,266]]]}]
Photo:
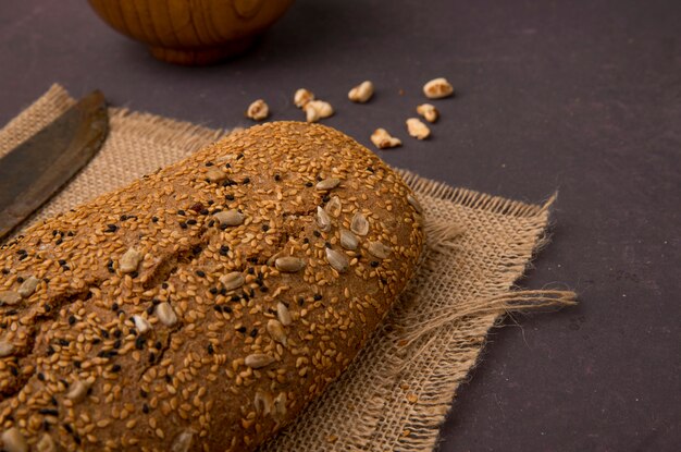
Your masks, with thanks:
[{"label": "brown wooden bowl base at the top edge", "polygon": [[159,60],[209,64],[248,49],[294,0],[88,0]]}]

